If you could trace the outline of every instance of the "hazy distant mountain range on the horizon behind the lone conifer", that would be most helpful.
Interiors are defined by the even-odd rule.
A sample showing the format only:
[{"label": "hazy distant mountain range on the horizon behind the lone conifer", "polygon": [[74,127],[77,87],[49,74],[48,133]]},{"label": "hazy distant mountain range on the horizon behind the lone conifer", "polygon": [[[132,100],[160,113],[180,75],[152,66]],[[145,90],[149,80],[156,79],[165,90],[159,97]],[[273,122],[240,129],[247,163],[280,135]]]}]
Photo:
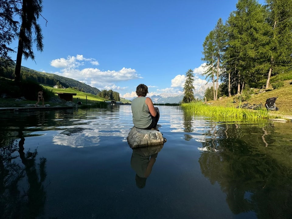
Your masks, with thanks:
[{"label": "hazy distant mountain range on the horizon behind the lone conifer", "polygon": [[[203,99],[205,96],[205,90],[211,87],[212,84],[202,85],[200,89],[194,91],[195,99]],[[161,94],[150,96],[153,103],[179,103],[184,96],[184,93],[177,96],[170,96],[170,94]]]}]

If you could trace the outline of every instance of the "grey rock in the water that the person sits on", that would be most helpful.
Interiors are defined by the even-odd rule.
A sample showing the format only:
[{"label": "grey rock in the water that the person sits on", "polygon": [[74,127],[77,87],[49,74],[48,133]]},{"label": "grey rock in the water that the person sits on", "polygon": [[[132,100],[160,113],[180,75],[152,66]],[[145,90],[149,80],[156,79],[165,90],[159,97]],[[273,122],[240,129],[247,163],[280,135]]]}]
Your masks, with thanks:
[{"label": "grey rock in the water that the person sits on", "polygon": [[139,129],[133,126],[128,134],[127,141],[131,148],[140,148],[162,145],[166,142],[166,138],[159,131]]}]

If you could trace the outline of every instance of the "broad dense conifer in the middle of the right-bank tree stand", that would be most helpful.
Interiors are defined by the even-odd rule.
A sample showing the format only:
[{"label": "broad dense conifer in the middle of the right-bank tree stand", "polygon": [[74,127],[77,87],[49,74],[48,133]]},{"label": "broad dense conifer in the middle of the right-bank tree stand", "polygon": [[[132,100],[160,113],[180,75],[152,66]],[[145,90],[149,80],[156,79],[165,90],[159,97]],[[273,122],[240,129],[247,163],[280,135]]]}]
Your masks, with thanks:
[{"label": "broad dense conifer in the middle of the right-bank tree stand", "polygon": [[[239,0],[236,11],[228,18],[228,46],[226,49],[225,69],[233,72],[239,94],[245,83],[254,82],[258,75],[259,60],[265,52],[262,45],[269,37],[266,33],[264,10],[256,0]],[[226,64],[229,64],[227,66]],[[232,69],[232,71],[230,71]],[[226,79],[225,75],[225,79]],[[231,81],[231,75],[229,75]],[[231,83],[229,81],[229,83]]]}]

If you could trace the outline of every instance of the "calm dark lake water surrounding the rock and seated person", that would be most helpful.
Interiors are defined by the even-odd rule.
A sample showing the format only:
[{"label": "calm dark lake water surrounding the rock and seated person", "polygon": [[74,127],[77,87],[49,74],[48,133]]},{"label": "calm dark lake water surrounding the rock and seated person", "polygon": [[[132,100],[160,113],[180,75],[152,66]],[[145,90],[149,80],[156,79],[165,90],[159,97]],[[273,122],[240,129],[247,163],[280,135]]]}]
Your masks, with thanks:
[{"label": "calm dark lake water surrounding the rock and seated person", "polygon": [[0,217],[292,217],[291,122],[159,109],[167,142],[134,151],[130,106],[0,112]]}]

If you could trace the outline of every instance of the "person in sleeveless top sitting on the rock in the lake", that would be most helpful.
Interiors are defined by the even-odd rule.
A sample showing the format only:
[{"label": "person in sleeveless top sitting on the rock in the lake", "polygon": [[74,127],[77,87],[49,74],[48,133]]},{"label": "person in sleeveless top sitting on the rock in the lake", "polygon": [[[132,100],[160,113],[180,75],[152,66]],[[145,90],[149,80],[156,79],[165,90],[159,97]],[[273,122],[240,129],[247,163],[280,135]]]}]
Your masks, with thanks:
[{"label": "person in sleeveless top sitting on the rock in the lake", "polygon": [[141,129],[157,129],[159,120],[159,110],[153,106],[152,100],[146,97],[148,87],[140,84],[136,88],[138,97],[132,100],[131,109],[133,114],[133,123],[136,128]]}]

